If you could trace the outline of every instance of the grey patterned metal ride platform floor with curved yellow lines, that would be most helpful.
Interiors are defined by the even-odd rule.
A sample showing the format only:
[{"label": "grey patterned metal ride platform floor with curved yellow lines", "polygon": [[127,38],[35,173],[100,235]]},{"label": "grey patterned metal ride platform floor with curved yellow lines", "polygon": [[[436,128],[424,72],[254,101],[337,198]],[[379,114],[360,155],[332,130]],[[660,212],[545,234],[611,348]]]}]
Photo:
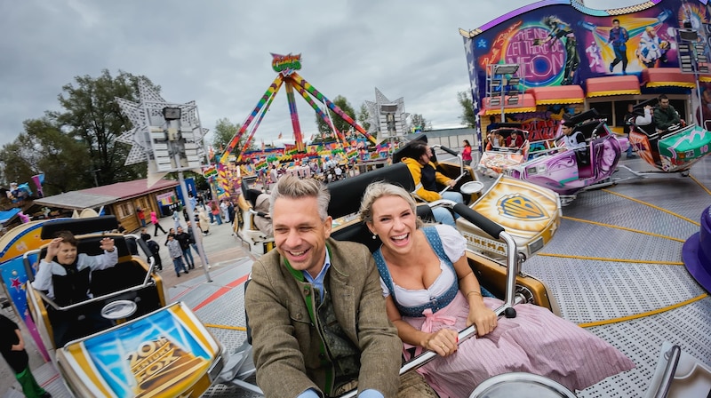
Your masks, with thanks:
[{"label": "grey patterned metal ride platform floor with curved yellow lines", "polygon": [[[624,164],[635,171],[650,170],[639,159]],[[699,232],[701,211],[711,204],[711,156],[693,166],[691,177],[656,174],[633,179],[621,168],[614,177],[620,179],[617,185],[580,193],[564,207],[552,242],[523,264],[525,273],[547,283],[563,317],[571,322],[633,317],[707,294],[681,265],[681,251],[683,241]],[[246,275],[249,267],[241,265],[225,280]],[[196,302],[204,299],[191,298],[189,292],[183,295]],[[197,314],[206,323],[244,326],[243,299],[240,285]],[[665,340],[711,366],[708,296],[659,314],[587,330],[627,354],[636,368],[579,392],[579,397],[643,396]],[[245,338],[241,330],[211,331],[228,352]],[[259,395],[235,386],[212,386],[204,396]]]}]

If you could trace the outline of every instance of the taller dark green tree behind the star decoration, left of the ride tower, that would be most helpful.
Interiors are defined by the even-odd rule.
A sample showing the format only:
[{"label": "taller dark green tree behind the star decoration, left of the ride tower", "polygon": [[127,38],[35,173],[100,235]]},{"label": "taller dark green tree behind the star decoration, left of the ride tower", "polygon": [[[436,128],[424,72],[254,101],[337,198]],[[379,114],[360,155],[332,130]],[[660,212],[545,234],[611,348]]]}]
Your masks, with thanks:
[{"label": "taller dark green tree behind the star decoration, left of the ride tower", "polygon": [[[80,141],[88,151],[89,166],[96,171],[99,185],[140,178],[146,171],[143,163],[124,166],[129,146],[116,144],[124,131],[132,129],[129,119],[121,112],[115,98],[138,102],[138,84],[142,80],[154,91],[160,87],[146,76],[133,76],[119,71],[116,77],[107,69],[99,77],[76,76],[76,86],[62,87],[58,100],[63,112],[48,115],[61,126],[61,131]],[[93,182],[93,177],[90,179]],[[89,184],[91,186],[93,184]]]}]

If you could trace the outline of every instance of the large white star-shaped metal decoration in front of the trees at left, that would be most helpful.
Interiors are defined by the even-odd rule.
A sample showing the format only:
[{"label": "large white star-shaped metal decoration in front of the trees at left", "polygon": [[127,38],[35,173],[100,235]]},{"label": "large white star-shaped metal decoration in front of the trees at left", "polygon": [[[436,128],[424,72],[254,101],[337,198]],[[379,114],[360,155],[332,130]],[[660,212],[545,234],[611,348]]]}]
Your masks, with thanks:
[{"label": "large white star-shaped metal decoration in front of the trees at left", "polygon": [[[139,103],[116,98],[121,111],[133,124],[132,130],[124,131],[117,139],[119,142],[132,146],[129,155],[126,157],[125,165],[148,162],[149,182],[150,180],[156,180],[156,177],[160,179],[166,174],[166,172],[156,173],[156,165],[154,164],[155,147],[153,147],[150,136],[151,131],[164,129],[166,123],[163,115],[164,107],[180,108],[181,131],[192,133],[188,135],[186,142],[194,144],[197,147],[198,156],[204,159],[203,137],[208,129],[200,126],[195,101],[185,104],[168,102],[143,81],[139,81],[139,98]],[[159,176],[151,176],[151,174],[159,174]]]}]

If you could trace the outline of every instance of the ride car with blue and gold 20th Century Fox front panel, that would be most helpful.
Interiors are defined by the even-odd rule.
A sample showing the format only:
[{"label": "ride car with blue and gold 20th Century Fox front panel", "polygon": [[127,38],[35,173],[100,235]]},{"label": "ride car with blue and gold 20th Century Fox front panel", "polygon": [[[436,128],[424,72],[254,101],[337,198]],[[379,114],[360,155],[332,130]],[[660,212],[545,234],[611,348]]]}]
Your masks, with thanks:
[{"label": "ride car with blue and gold 20th Century Fox front panel", "polygon": [[[14,238],[3,241],[0,267],[3,271],[12,267],[26,291],[21,299],[12,296],[13,304],[26,315],[23,321],[36,346],[60,370],[71,394],[198,397],[223,367],[222,346],[187,306],[166,305],[153,259],[148,264],[132,254],[127,241],[135,240],[147,257],[148,246],[137,236],[106,232],[117,226],[114,216],[52,219],[25,224],[19,235],[9,234]],[[116,265],[104,269],[79,267],[76,262],[74,267],[58,265],[69,267],[64,268],[70,269],[65,271],[69,275],[91,273],[88,285],[52,276],[52,294],[37,290],[33,282],[39,259],[45,258],[60,231],[74,235],[78,253],[99,256],[116,251],[112,257]],[[113,245],[107,249],[109,239]],[[54,275],[52,264],[43,266],[52,267]],[[67,302],[71,292],[84,288],[90,296]]]}]

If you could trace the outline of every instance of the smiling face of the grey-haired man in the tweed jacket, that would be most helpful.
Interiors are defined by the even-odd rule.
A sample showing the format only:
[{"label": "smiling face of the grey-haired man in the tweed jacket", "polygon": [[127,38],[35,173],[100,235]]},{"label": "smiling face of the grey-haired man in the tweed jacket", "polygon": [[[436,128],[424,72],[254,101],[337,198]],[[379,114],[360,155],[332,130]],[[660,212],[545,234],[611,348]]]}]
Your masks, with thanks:
[{"label": "smiling face of the grey-haired man in the tweed jacket", "polygon": [[276,251],[292,268],[316,277],[324,267],[326,238],[331,235],[331,217],[318,215],[316,197],[280,197],[272,213]]}]

